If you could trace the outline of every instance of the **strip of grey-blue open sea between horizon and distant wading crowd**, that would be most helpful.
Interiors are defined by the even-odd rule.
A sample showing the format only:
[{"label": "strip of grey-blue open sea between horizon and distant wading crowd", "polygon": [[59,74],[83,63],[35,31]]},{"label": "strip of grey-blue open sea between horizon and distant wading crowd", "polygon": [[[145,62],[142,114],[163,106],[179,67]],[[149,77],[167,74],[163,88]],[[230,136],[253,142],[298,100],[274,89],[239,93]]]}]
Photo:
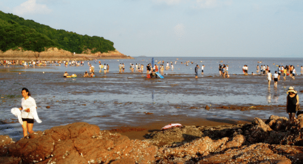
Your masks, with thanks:
[{"label": "strip of grey-blue open sea between horizon and distant wading crowd", "polygon": [[[147,64],[151,63],[152,57],[135,57],[135,59],[120,59],[120,60],[96,60],[96,61],[85,61],[84,66],[80,67],[65,67],[63,64],[61,64],[61,67],[58,66],[49,66],[48,68],[43,67],[36,67],[35,69],[26,69],[26,71],[38,71],[38,72],[71,72],[71,73],[82,73],[84,74],[85,71],[88,71],[88,65],[91,64],[95,67],[95,72],[99,70],[99,61],[101,64],[108,64],[110,66],[111,73],[117,73],[119,72],[119,64],[124,63],[126,72],[130,72],[129,67],[130,64],[143,64],[144,65],[144,71],[146,71]],[[303,58],[212,58],[212,57],[155,57],[154,62],[156,65],[162,64],[162,61],[164,61],[164,67],[166,67],[167,62],[169,63],[169,66],[171,67],[171,62],[173,62],[174,70],[171,71],[164,71],[165,74],[194,74],[194,68],[196,65],[199,65],[201,67],[202,65],[205,65],[204,72],[205,74],[218,74],[219,73],[219,64],[228,65],[228,73],[229,74],[242,74],[242,67],[244,65],[248,66],[248,73],[251,74],[251,72],[257,73],[256,68],[257,65],[261,67],[261,65],[266,65],[270,67],[270,70],[272,73],[278,69],[277,66],[286,66],[286,65],[293,65],[297,71],[297,73],[300,72],[300,67],[303,66]],[[188,66],[186,66],[184,63],[186,61],[189,61]],[[262,63],[258,63],[262,62]],[[161,62],[161,63],[160,63]],[[177,62],[175,64],[175,62]],[[183,64],[181,64],[181,62]],[[191,62],[193,64],[191,64]],[[222,63],[221,63],[222,62]],[[159,64],[158,64],[159,63]],[[25,69],[22,68],[24,71]],[[144,72],[145,73],[145,72]]]}]

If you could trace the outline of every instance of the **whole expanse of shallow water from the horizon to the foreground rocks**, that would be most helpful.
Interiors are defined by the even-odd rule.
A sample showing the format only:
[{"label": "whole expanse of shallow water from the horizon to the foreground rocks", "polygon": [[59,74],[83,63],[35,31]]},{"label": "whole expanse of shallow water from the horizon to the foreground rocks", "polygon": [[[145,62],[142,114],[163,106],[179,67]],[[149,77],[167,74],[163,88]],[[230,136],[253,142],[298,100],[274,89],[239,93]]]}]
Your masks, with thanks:
[{"label": "whole expanse of shallow water from the horizon to the foreground rocks", "polygon": [[[79,67],[65,67],[63,64],[34,68],[0,66],[0,135],[10,135],[14,139],[22,137],[22,127],[18,121],[12,120],[17,118],[10,110],[20,107],[23,87],[32,92],[38,115],[43,121],[41,124],[35,123],[35,131],[79,121],[98,125],[100,129],[112,129],[125,124],[136,126],[133,124],[138,122],[138,118],[145,117],[144,112],[159,117],[183,115],[210,121],[220,118],[251,120],[255,117],[268,118],[273,114],[287,117],[285,110],[229,111],[211,105],[285,105],[289,86],[295,86],[298,91],[303,90],[300,82],[302,76],[296,76],[296,80],[287,77],[286,81],[278,82],[278,88],[273,87],[273,82],[268,88],[266,76],[242,76],[243,65],[248,66],[248,73],[256,73],[258,61],[262,61],[259,66],[268,65],[272,72],[277,70],[277,65],[294,65],[297,74],[300,74],[302,58],[155,57],[155,64],[164,61],[166,66],[167,62],[173,62],[175,69],[165,70],[164,79],[153,80],[145,78],[146,65],[151,63],[151,57],[100,60],[101,64],[110,65],[110,73],[106,75],[98,72],[98,61],[84,61],[84,66]],[[186,61],[193,64],[186,66]],[[96,78],[81,77],[85,71],[89,71],[87,62],[95,67]],[[120,63],[125,64],[125,72],[128,74],[118,74]],[[144,74],[129,74],[130,64],[136,63],[144,65]],[[205,74],[199,73],[198,80],[194,79],[196,64],[205,65]],[[219,64],[229,65],[230,79],[219,76]],[[70,75],[77,74],[78,78],[63,78],[65,71]],[[301,101],[302,96],[300,92],[298,94]],[[211,106],[211,110],[204,110],[205,105]],[[190,106],[198,106],[199,110],[190,110]]]}]

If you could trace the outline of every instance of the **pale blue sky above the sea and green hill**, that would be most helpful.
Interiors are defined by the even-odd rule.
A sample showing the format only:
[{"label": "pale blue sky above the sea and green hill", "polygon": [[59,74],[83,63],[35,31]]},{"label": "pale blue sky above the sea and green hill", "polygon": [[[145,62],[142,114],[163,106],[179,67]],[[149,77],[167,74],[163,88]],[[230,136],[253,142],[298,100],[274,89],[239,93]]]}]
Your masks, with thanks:
[{"label": "pale blue sky above the sea and green hill", "polygon": [[300,0],[0,0],[0,10],[132,57],[303,58]]}]

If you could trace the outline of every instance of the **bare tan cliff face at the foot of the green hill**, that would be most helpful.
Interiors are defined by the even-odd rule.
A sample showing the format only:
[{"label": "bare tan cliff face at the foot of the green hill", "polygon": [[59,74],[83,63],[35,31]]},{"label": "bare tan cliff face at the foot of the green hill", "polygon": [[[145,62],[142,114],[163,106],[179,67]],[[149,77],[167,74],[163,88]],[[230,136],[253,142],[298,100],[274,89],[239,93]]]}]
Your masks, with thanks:
[{"label": "bare tan cliff face at the foot of the green hill", "polygon": [[110,51],[109,53],[82,53],[73,54],[70,51],[48,48],[42,52],[34,52],[31,50],[7,50],[2,52],[0,50],[1,60],[92,60],[92,59],[133,59],[129,56],[125,56],[118,50]]}]

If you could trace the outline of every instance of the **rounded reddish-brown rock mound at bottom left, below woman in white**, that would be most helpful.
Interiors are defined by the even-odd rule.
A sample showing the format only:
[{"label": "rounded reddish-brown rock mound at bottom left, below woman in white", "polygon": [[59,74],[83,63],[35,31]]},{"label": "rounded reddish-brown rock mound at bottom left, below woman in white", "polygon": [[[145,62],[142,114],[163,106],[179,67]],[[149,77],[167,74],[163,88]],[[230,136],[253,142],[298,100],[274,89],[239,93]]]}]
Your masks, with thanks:
[{"label": "rounded reddish-brown rock mound at bottom left, below woman in white", "polygon": [[73,123],[29,134],[0,151],[7,159],[19,159],[16,163],[110,163],[124,158],[146,163],[155,159],[157,147],[95,125]]}]

